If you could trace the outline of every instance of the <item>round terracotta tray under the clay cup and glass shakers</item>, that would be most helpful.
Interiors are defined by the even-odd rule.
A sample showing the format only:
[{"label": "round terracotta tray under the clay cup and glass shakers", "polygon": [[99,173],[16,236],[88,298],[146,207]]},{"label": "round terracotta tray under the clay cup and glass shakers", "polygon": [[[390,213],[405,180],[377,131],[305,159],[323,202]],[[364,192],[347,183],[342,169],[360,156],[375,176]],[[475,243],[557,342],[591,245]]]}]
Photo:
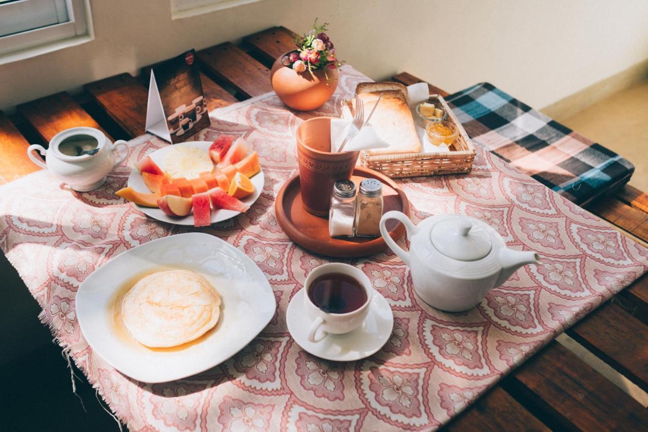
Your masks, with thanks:
[{"label": "round terracotta tray under the clay cup and glass shakers", "polygon": [[[382,182],[383,212],[399,210],[410,215],[410,202],[391,178],[372,169],[356,167],[351,180],[358,185],[365,178],[376,178]],[[299,193],[299,174],[290,178],[281,187],[275,200],[275,211],[277,221],[288,237],[297,245],[316,254],[336,258],[353,258],[373,255],[387,248],[382,237],[330,237],[329,219],[311,215],[302,206]],[[388,221],[386,226],[389,235],[395,241],[405,234],[405,227],[393,219]]]}]

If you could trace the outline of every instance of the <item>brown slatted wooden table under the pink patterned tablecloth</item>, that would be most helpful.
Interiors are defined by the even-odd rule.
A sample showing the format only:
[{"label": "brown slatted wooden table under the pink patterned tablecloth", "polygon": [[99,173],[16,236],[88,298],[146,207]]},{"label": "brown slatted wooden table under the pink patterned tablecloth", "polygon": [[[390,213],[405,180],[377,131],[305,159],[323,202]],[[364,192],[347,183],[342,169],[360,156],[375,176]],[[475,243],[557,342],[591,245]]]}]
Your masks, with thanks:
[{"label": "brown slatted wooden table under the pink patterned tablecloth", "polygon": [[[273,60],[293,48],[293,33],[274,27],[198,51],[210,110],[270,91]],[[57,132],[92,126],[113,139],[145,132],[148,71],[91,82],[72,97],[56,93],[0,112],[0,183],[39,168],[25,154],[28,143],[46,145]],[[408,73],[403,84],[420,82]],[[430,84],[435,93],[447,95]],[[648,195],[621,186],[587,209],[621,232],[648,241]],[[0,272],[14,271],[4,257]],[[26,289],[14,286],[11,289]],[[641,389],[648,391],[648,276],[583,318],[566,333]],[[648,412],[631,396],[558,342],[551,342],[487,392],[446,429],[645,429]],[[643,427],[642,427],[643,425]]]}]

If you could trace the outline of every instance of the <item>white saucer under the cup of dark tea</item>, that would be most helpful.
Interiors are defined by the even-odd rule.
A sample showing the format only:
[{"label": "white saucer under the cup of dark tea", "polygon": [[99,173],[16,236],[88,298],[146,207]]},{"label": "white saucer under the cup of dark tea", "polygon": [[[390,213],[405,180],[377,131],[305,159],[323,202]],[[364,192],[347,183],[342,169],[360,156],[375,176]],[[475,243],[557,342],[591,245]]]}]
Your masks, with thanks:
[{"label": "white saucer under the cup of dark tea", "polygon": [[369,315],[362,327],[344,335],[328,335],[321,342],[308,341],[310,319],[304,309],[305,289],[299,290],[286,310],[288,331],[301,348],[312,355],[332,361],[355,361],[369,357],[391,337],[394,315],[382,294],[374,291]]}]

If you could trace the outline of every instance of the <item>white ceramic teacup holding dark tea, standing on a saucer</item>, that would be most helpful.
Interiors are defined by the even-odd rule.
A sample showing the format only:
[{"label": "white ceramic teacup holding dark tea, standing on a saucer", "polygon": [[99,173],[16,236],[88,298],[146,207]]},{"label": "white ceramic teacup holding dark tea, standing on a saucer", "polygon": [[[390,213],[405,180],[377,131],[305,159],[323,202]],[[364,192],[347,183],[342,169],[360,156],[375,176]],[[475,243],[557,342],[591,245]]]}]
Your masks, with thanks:
[{"label": "white ceramic teacup holding dark tea, standing on a saucer", "polygon": [[[364,304],[349,313],[329,313],[316,306],[310,300],[308,290],[319,276],[327,273],[345,274],[360,282],[365,293],[367,293],[367,300]],[[356,330],[356,328],[362,326],[365,318],[367,318],[369,304],[371,304],[371,296],[373,294],[373,286],[369,278],[367,278],[367,275],[362,270],[353,267],[353,265],[344,263],[320,265],[308,274],[304,287],[306,290],[304,293],[304,306],[308,317],[312,320],[310,330],[308,331],[308,341],[310,342],[322,341],[327,334],[342,335],[349,333],[349,331]]]}]

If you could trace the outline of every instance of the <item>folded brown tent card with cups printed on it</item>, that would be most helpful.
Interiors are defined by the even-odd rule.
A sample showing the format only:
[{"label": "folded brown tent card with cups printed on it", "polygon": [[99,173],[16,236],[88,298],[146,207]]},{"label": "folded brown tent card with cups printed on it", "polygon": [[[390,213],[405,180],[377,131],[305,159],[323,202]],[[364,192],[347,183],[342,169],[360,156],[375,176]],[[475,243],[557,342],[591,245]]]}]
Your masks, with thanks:
[{"label": "folded brown tent card with cups printed on it", "polygon": [[146,132],[172,144],[210,124],[195,56],[191,49],[151,69]]}]

